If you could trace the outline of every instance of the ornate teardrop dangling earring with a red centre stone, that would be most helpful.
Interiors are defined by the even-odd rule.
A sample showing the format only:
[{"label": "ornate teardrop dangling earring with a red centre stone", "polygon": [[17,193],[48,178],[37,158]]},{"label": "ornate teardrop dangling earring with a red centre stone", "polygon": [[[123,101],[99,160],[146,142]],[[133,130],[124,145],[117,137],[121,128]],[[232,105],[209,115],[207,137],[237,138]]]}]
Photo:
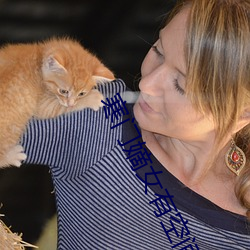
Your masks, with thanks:
[{"label": "ornate teardrop dangling earring with a red centre stone", "polygon": [[225,155],[225,161],[228,168],[236,175],[239,175],[241,170],[245,167],[246,156],[244,152],[235,145],[233,139],[231,146]]}]

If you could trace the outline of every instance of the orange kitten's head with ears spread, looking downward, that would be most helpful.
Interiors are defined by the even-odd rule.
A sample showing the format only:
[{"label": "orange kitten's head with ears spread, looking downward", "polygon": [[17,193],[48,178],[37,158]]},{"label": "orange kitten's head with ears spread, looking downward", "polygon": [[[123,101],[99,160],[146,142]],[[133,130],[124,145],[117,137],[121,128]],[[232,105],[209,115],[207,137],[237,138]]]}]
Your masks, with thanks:
[{"label": "orange kitten's head with ears spread, looking downward", "polygon": [[93,54],[70,39],[44,44],[42,75],[46,89],[65,107],[74,106],[98,81],[114,79]]}]

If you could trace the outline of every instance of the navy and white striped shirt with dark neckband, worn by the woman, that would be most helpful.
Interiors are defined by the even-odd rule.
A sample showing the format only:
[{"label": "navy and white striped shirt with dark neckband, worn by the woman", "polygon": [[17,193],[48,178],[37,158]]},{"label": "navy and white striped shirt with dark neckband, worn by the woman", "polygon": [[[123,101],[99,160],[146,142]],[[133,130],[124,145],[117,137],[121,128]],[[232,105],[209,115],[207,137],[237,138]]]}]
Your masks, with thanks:
[{"label": "navy and white striped shirt with dark neckband, worn by the woman", "polygon": [[[99,89],[108,103],[126,86],[115,80]],[[26,163],[52,172],[58,249],[250,249],[246,217],[171,175],[146,148],[131,105],[110,110],[33,119],[22,137]]]}]

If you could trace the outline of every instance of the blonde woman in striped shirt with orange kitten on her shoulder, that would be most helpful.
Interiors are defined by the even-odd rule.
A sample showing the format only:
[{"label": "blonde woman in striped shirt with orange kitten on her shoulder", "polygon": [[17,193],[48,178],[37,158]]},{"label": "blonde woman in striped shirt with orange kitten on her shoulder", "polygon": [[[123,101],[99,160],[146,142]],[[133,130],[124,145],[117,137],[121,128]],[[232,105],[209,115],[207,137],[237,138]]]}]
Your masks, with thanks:
[{"label": "blonde woman in striped shirt with orange kitten on her shoulder", "polygon": [[30,123],[22,144],[51,166],[58,249],[250,249],[249,11],[182,1],[134,107],[116,80],[102,110]]}]

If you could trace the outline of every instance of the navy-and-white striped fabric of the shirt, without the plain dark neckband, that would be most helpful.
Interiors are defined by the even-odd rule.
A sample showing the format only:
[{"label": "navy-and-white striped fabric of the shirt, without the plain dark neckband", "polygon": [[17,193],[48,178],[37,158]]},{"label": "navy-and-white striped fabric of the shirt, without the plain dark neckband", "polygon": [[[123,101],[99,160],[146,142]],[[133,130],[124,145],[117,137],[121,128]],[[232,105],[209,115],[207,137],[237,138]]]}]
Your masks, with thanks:
[{"label": "navy-and-white striped fabric of the shirt, without the plain dark neckband", "polygon": [[[99,87],[106,97],[126,89],[121,80]],[[58,249],[172,249],[182,240],[171,234],[170,244],[160,224],[168,225],[169,217],[156,218],[155,208],[149,204],[155,199],[155,191],[148,188],[145,195],[144,184],[117,143],[123,139],[125,126],[113,130],[111,126],[103,110],[85,109],[54,119],[32,120],[22,138],[27,162],[51,168],[58,211]],[[202,220],[195,207],[182,201],[180,190],[172,192],[178,196],[175,205],[188,220],[199,249],[250,249],[249,231],[237,232],[234,225],[232,230],[213,226],[209,216]],[[174,215],[173,211],[169,215]]]}]

